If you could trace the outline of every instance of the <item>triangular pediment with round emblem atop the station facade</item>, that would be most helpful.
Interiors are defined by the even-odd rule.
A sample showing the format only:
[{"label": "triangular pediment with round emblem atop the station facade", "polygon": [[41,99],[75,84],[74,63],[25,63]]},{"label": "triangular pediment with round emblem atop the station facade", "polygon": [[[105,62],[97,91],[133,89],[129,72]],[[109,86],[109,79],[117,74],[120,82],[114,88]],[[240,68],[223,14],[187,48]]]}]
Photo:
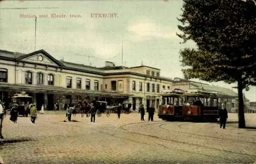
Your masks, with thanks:
[{"label": "triangular pediment with round emblem atop the station facade", "polygon": [[18,58],[17,61],[42,64],[54,67],[65,67],[62,63],[53,58],[49,53],[47,53],[43,49],[26,54],[25,56]]}]

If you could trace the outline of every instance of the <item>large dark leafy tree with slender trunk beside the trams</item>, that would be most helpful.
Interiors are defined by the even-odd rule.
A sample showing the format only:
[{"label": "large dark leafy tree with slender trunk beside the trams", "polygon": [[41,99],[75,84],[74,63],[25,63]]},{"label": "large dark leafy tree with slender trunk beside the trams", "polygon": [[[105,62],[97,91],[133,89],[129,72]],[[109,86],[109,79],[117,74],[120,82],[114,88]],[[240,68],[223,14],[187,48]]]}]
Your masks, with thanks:
[{"label": "large dark leafy tree with slender trunk beside the trams", "polygon": [[245,128],[243,89],[256,85],[256,5],[254,1],[183,0],[178,25],[197,48],[180,51],[185,78],[238,83],[239,128]]}]

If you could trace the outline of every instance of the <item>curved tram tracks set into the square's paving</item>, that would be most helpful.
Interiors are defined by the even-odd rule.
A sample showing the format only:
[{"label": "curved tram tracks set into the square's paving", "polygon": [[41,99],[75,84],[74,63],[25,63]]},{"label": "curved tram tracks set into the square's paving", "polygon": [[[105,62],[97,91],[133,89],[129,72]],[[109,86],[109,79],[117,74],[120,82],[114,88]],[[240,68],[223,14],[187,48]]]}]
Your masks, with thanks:
[{"label": "curved tram tracks set into the square's paving", "polygon": [[[156,122],[156,123],[155,123]],[[160,136],[156,136],[156,135],[151,135],[151,134],[143,134],[143,133],[140,133],[140,132],[135,132],[135,131],[131,131],[131,130],[128,130],[125,128],[125,126],[129,126],[129,125],[136,125],[136,124],[142,124],[141,127],[143,128],[144,126],[147,126],[147,125],[157,125],[157,124],[160,124],[158,126],[161,126],[163,125],[162,122],[165,122],[165,121],[155,121],[154,123],[147,123],[147,124],[144,124],[144,123],[130,123],[130,124],[125,124],[125,125],[122,125],[120,126],[119,128],[122,129],[124,132],[126,133],[133,133],[133,134],[137,134],[137,135],[143,135],[143,136],[148,136],[148,137],[151,137],[151,138],[155,138],[155,139],[159,139],[159,140],[162,140],[162,141],[169,141],[169,142],[174,142],[174,143],[180,143],[180,144],[184,144],[184,145],[187,145],[187,146],[196,146],[196,147],[200,147],[200,148],[206,148],[206,149],[211,149],[211,150],[216,150],[216,151],[221,151],[221,152],[226,152],[226,153],[232,153],[232,154],[237,154],[237,155],[246,155],[246,156],[250,156],[250,157],[253,157],[255,158],[256,155],[253,155],[253,154],[248,154],[248,153],[242,153],[242,152],[234,152],[234,151],[230,151],[230,150],[223,150],[223,149],[218,149],[218,148],[212,148],[212,147],[208,147],[208,146],[204,146],[204,145],[200,145],[200,144],[193,144],[193,143],[188,143],[188,142],[183,142],[183,141],[179,141],[179,140],[174,140],[174,139],[166,139],[166,138],[162,138]],[[146,122],[145,122],[146,123]],[[164,124],[168,124],[168,123],[164,123]],[[190,124],[190,123],[186,123],[186,124]],[[175,130],[174,130],[175,131]],[[181,132],[181,131],[175,131],[175,132],[179,132],[179,133],[184,133],[184,132]],[[192,135],[193,133],[191,133]],[[200,134],[195,134],[195,135],[198,135],[200,136]],[[112,136],[115,137],[114,134],[112,134]],[[210,138],[210,136],[208,136]],[[131,139],[126,139],[126,138],[123,138],[124,140],[131,140]],[[228,140],[228,139],[226,139]],[[134,141],[134,140],[131,140],[133,142],[138,142],[138,141]],[[244,142],[244,141],[242,141]],[[138,142],[140,143],[140,142]],[[144,143],[143,143],[144,144]],[[168,149],[172,149],[172,147],[167,147],[166,145],[162,145],[162,144],[157,144],[157,143],[154,143],[158,146],[162,146],[164,148],[168,148]],[[255,144],[255,143],[253,143]],[[147,144],[146,144],[147,145]],[[173,150],[173,149],[172,149]],[[191,151],[184,151],[184,150],[179,150],[179,151],[183,151],[183,152],[188,152],[188,153],[192,153]],[[192,154],[200,154],[200,155],[205,155],[205,156],[212,156],[212,155],[207,155],[207,154],[202,154],[202,153],[198,153],[198,152],[193,152]],[[219,156],[216,156],[216,157],[219,157]]]}]

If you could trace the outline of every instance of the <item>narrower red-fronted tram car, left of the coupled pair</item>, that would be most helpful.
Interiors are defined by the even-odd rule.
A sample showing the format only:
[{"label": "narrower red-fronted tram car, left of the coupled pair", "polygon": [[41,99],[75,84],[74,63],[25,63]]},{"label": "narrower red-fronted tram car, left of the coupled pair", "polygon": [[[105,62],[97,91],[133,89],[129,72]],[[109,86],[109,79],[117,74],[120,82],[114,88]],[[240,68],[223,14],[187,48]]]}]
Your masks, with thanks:
[{"label": "narrower red-fronted tram car, left of the coupled pair", "polygon": [[183,119],[183,94],[181,89],[164,90],[161,94],[162,103],[159,105],[158,117],[167,121]]}]

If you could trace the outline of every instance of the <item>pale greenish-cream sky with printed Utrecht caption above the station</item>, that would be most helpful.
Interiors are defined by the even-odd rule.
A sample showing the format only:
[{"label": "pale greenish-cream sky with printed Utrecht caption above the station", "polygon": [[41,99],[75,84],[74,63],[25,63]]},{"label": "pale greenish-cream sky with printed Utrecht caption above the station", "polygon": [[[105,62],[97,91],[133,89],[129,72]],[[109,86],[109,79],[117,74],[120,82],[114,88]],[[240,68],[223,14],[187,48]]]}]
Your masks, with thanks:
[{"label": "pale greenish-cream sky with printed Utrecht caption above the station", "polygon": [[[0,1],[0,49],[23,53],[44,49],[56,59],[96,67],[105,61],[127,67],[143,63],[161,69],[161,76],[182,78],[179,51],[196,47],[193,41],[180,44],[176,35],[182,3]],[[237,86],[222,81],[212,84]],[[256,101],[256,87],[244,93]]]}]

